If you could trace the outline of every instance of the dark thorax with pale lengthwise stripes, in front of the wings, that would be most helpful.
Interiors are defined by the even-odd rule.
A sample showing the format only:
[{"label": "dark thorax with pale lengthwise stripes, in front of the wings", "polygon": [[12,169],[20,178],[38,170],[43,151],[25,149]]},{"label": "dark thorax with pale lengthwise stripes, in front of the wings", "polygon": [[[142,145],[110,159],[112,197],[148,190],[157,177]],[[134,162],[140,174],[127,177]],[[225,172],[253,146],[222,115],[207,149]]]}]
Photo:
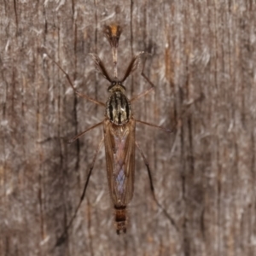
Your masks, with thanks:
[{"label": "dark thorax with pale lengthwise stripes, in front of the wings", "polygon": [[106,104],[106,115],[115,125],[125,125],[131,118],[131,105],[119,85],[108,90],[111,95]]}]

